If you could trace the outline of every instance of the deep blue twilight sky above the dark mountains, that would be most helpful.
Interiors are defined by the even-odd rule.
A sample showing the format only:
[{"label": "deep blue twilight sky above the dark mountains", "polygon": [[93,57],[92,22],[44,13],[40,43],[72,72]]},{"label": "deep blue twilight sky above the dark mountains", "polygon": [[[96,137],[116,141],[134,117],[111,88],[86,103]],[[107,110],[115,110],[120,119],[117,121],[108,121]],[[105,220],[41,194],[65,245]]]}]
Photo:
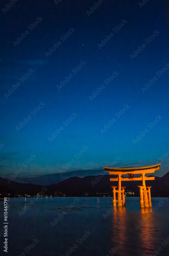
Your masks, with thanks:
[{"label": "deep blue twilight sky above the dark mountains", "polygon": [[[169,62],[167,1],[148,1],[140,7],[139,1],[105,0],[88,16],[95,2],[17,1],[3,13],[8,1],[1,1],[1,177],[9,178],[20,167],[20,177],[58,173],[72,159],[67,172],[100,168],[118,157],[118,167],[146,166],[162,162],[164,154],[155,175],[168,172],[169,68],[160,77],[156,74]],[[29,29],[37,17],[43,20]],[[115,33],[122,19],[127,22]],[[61,40],[70,28],[75,31]],[[13,41],[26,30],[29,34],[15,46]],[[160,33],[145,42],[154,30]],[[99,49],[110,33],[114,36]],[[62,44],[47,57],[58,41]],[[142,44],[145,48],[132,59]],[[73,73],[81,61],[86,64]],[[34,72],[22,83],[19,79],[29,69]],[[113,72],[119,74],[105,84]],[[69,74],[73,77],[58,90]],[[141,88],[155,76],[143,93]],[[18,82],[21,85],[5,97]],[[102,85],[105,88],[90,100]],[[45,105],[31,113],[39,102]],[[116,113],[127,104],[130,107],[118,118]],[[72,113],[77,116],[66,126],[63,122]],[[32,118],[17,131],[29,115]],[[162,118],[150,129],[157,115]],[[113,118],[116,121],[103,132]],[[64,129],[49,142],[60,126]],[[133,142],[145,129],[145,136]],[[83,146],[88,149],[77,159]],[[36,157],[24,168],[31,154]]]}]

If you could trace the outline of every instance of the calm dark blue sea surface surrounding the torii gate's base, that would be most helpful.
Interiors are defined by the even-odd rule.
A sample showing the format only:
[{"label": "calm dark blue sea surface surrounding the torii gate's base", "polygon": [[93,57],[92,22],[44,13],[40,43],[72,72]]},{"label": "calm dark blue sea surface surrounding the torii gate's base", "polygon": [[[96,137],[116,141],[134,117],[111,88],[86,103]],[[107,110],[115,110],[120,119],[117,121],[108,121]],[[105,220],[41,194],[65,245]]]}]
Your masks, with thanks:
[{"label": "calm dark blue sea surface surrounding the torii gate's base", "polygon": [[112,210],[111,197],[8,198],[8,252],[0,202],[0,255],[168,256],[169,198],[152,198],[154,213],[138,197],[125,199]]}]

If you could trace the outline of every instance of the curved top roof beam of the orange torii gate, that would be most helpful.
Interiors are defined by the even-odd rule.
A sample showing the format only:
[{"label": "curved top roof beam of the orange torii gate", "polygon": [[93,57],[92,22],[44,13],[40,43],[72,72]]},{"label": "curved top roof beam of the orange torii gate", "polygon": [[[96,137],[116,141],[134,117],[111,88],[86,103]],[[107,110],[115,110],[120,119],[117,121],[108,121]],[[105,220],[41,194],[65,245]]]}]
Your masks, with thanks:
[{"label": "curved top roof beam of the orange torii gate", "polygon": [[109,172],[109,174],[128,174],[128,173],[154,173],[155,170],[160,169],[160,164],[151,165],[151,166],[145,166],[145,167],[129,167],[129,168],[112,168],[112,167],[104,167],[104,170]]}]

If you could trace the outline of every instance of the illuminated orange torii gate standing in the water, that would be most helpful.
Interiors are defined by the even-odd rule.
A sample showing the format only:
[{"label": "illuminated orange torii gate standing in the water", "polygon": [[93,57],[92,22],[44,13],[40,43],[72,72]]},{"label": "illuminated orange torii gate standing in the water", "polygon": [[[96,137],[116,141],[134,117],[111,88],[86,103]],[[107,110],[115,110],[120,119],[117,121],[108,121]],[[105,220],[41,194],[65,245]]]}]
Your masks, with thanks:
[{"label": "illuminated orange torii gate standing in the water", "polygon": [[[138,186],[140,189],[140,207],[151,207],[151,194],[150,188],[146,187],[145,180],[154,180],[155,177],[146,177],[145,173],[154,173],[155,170],[160,169],[160,164],[146,166],[146,167],[132,167],[132,168],[111,168],[105,167],[109,174],[118,175],[117,178],[110,178],[110,181],[118,181],[118,189],[117,186],[112,186],[113,188],[113,207],[116,207],[116,203],[118,202],[118,206],[125,206],[125,196],[124,196],[124,188],[121,187],[121,181],[131,181],[131,180],[142,180],[142,185]],[[129,178],[122,178],[122,174],[128,174]],[[134,174],[142,174],[140,178],[134,178]],[[147,190],[148,188],[148,190]],[[148,195],[147,195],[148,192]],[[118,193],[118,200],[116,200],[116,193]],[[122,199],[121,199],[122,193]]]}]

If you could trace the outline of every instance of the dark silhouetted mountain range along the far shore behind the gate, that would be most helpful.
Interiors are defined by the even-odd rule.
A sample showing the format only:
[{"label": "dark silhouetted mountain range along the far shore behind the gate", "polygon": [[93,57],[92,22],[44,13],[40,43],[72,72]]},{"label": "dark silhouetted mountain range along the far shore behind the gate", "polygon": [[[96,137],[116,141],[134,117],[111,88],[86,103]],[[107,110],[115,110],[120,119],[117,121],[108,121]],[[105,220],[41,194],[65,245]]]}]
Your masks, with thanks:
[{"label": "dark silhouetted mountain range along the far shore behind the gate", "polygon": [[[150,175],[149,177],[151,177]],[[112,196],[111,186],[118,186],[118,182],[110,182],[110,178],[115,178],[117,175],[98,175],[86,177],[70,177],[57,184],[47,186],[25,184],[11,181],[0,177],[0,197],[16,196],[17,194],[35,196],[43,187],[47,191],[44,195],[47,196]],[[124,181],[122,186],[126,187],[125,191],[134,192],[134,196],[139,196],[137,185],[142,185],[141,181]],[[146,185],[152,186],[152,197],[169,197],[169,172],[163,177],[155,177],[155,180],[147,180]]]}]

